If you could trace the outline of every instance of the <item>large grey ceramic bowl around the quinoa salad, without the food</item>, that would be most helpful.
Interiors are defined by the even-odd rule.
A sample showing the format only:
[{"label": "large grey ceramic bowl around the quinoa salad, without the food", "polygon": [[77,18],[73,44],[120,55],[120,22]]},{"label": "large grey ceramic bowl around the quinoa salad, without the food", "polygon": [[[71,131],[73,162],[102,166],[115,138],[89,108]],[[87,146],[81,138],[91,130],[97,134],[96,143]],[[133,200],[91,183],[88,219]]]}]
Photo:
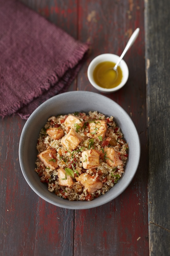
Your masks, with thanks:
[{"label": "large grey ceramic bowl around the quinoa salad, without the food", "polygon": [[[114,116],[115,122],[121,128],[125,140],[129,143],[129,157],[125,172],[118,183],[105,195],[92,201],[69,201],[56,196],[47,189],[47,184],[40,182],[40,177],[34,171],[37,156],[37,139],[41,128],[48,117],[61,114],[90,110],[99,111],[106,116]],[[19,142],[19,162],[22,173],[33,191],[47,202],[69,209],[88,209],[105,204],[119,196],[133,179],[140,159],[140,140],[137,130],[129,115],[117,103],[98,93],[74,91],[54,96],[39,106],[27,120]]]}]

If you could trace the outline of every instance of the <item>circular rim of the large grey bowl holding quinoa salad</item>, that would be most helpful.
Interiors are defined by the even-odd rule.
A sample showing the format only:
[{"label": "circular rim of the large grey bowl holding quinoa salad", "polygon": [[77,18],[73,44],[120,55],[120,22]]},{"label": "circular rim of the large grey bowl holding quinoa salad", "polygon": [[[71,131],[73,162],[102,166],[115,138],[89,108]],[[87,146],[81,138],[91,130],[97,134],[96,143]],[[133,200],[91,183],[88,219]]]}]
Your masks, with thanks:
[{"label": "circular rim of the large grey bowl holding quinoa salad", "polygon": [[[138,153],[135,153],[137,154],[137,162],[136,162],[136,166],[133,170],[133,172],[131,173],[130,175],[130,180],[126,183],[125,186],[121,187],[119,192],[115,195],[115,196],[109,196],[107,197],[107,193],[109,191],[107,191],[107,193],[105,193],[104,195],[101,195],[103,196],[102,198],[105,198],[105,200],[100,200],[100,196],[98,198],[95,198],[93,199],[92,201],[86,201],[86,202],[82,202],[82,201],[69,201],[69,200],[65,200],[63,198],[64,201],[62,203],[61,202],[54,202],[54,200],[52,199],[49,199],[48,198],[48,194],[45,192],[45,193],[41,193],[39,191],[39,189],[37,188],[37,183],[36,182],[31,182],[29,180],[29,174],[26,172],[25,170],[25,165],[24,165],[24,159],[23,159],[23,149],[24,149],[24,146],[25,146],[25,141],[24,141],[24,137],[26,136],[26,132],[28,131],[29,129],[29,125],[30,123],[32,122],[32,119],[36,119],[36,116],[39,114],[39,111],[41,112],[42,111],[42,108],[45,108],[49,105],[49,103],[52,103],[53,101],[56,101],[57,98],[59,99],[60,97],[64,97],[66,95],[70,96],[70,94],[75,94],[75,96],[77,95],[78,97],[81,95],[81,96],[89,96],[89,94],[91,94],[93,97],[95,96],[98,96],[99,98],[102,98],[102,99],[105,99],[107,101],[109,101],[110,103],[112,103],[113,105],[117,106],[117,108],[120,109],[121,112],[123,112],[125,115],[126,115],[126,118],[129,120],[130,122],[130,125],[133,126],[133,129],[135,131],[135,138],[136,138],[136,144],[137,144],[137,150],[138,150]],[[104,113],[105,114],[105,113]],[[121,127],[120,127],[121,128]],[[122,129],[121,129],[122,130]],[[94,208],[94,207],[98,207],[98,206],[101,206],[103,204],[106,204],[108,202],[110,202],[111,200],[115,199],[117,196],[119,196],[120,194],[122,194],[122,192],[129,186],[129,184],[131,183],[133,177],[135,176],[136,172],[137,172],[137,168],[138,168],[138,165],[139,165],[139,161],[140,161],[140,153],[141,153],[141,147],[140,147],[140,139],[139,139],[139,135],[137,133],[137,130],[136,130],[136,127],[133,123],[133,121],[131,120],[130,116],[127,114],[127,112],[118,104],[116,103],[114,100],[111,100],[109,99],[108,97],[104,96],[104,95],[101,95],[101,94],[98,94],[98,93],[95,93],[95,92],[88,92],[88,91],[72,91],[72,92],[64,92],[64,93],[61,93],[61,94],[58,94],[48,100],[46,100],[44,103],[42,103],[38,108],[36,108],[33,113],[30,115],[30,117],[28,118],[28,120],[26,121],[24,127],[23,127],[23,130],[22,130],[22,133],[21,133],[21,137],[20,137],[20,141],[19,141],[19,163],[20,163],[20,167],[21,167],[21,171],[23,173],[23,176],[26,180],[26,182],[28,183],[28,185],[33,189],[33,191],[38,195],[40,196],[42,199],[44,199],[46,202],[48,203],[51,203],[55,206],[59,206],[59,207],[62,207],[62,208],[66,208],[66,209],[75,209],[75,210],[82,210],[82,209],[90,209],[90,208]],[[125,168],[126,168],[126,165],[125,165]],[[38,177],[39,178],[39,177]],[[40,182],[41,183],[41,182]],[[42,183],[41,183],[42,184]],[[117,184],[116,184],[117,185]],[[114,187],[113,187],[114,188]],[[48,189],[47,189],[47,192]],[[51,192],[49,192],[51,193]],[[47,196],[46,196],[47,194]],[[51,193],[53,194],[53,193]],[[105,197],[104,197],[105,196]],[[57,197],[58,198],[58,197]],[[101,202],[100,202],[101,201]],[[99,202],[99,203],[98,203]],[[83,204],[84,203],[84,204]],[[88,204],[86,204],[88,203]]]}]

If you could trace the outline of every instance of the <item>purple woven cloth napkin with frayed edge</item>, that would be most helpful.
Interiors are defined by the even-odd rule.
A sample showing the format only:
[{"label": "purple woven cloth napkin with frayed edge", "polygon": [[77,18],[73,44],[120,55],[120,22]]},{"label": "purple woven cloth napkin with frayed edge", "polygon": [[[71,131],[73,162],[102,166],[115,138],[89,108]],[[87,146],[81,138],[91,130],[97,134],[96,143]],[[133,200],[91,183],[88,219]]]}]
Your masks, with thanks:
[{"label": "purple woven cloth napkin with frayed edge", "polygon": [[17,0],[0,0],[0,116],[27,119],[65,92],[88,45],[76,41]]}]

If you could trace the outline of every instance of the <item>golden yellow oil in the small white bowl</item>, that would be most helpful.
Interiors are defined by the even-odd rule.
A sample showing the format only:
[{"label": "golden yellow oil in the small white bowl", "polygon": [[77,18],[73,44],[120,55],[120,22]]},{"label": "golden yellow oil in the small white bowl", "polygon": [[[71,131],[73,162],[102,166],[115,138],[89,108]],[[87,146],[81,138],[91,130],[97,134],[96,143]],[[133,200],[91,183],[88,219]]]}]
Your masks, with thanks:
[{"label": "golden yellow oil in the small white bowl", "polygon": [[96,84],[102,88],[111,89],[118,86],[122,81],[122,69],[118,66],[118,76],[112,70],[116,63],[111,61],[100,62],[93,71],[93,78]]}]

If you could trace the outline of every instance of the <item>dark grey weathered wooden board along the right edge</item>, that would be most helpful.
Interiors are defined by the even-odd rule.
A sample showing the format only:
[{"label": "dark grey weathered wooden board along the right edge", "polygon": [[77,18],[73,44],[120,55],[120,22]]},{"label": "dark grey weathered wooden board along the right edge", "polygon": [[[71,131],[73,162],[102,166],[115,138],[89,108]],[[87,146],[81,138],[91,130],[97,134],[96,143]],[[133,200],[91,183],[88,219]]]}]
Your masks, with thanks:
[{"label": "dark grey weathered wooden board along the right edge", "polygon": [[169,1],[146,1],[150,255],[170,255]]}]

